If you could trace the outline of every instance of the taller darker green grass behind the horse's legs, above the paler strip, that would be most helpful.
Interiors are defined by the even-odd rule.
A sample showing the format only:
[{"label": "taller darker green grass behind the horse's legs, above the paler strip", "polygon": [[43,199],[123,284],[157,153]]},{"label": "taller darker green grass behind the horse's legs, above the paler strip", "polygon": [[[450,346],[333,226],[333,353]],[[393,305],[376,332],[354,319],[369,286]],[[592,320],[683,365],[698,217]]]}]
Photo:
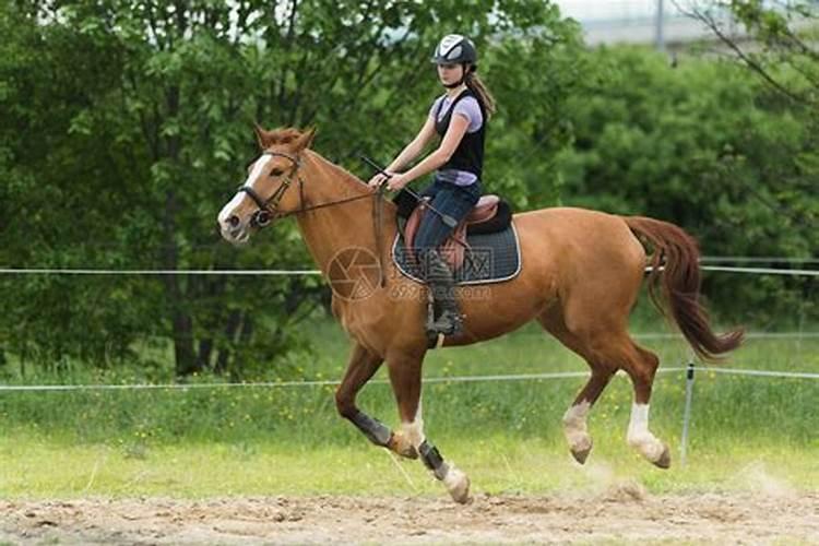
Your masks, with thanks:
[{"label": "taller darker green grass behind the horse's legs, above the paler strip", "polygon": [[[655,327],[653,327],[654,329]],[[293,357],[293,371],[268,369],[258,379],[280,382],[292,375],[317,381],[341,378],[346,339],[337,324],[317,321],[309,333],[322,340],[310,357]],[[681,341],[642,340],[655,352],[661,369],[681,367],[688,348]],[[537,355],[533,358],[532,355]],[[816,371],[819,340],[751,339],[732,355],[736,368]],[[585,363],[539,330],[525,329],[494,343],[456,351],[430,353],[426,378],[583,371]],[[173,375],[156,375],[144,368],[39,373],[7,377],[12,383],[130,384],[146,380],[168,382]],[[128,444],[144,434],[151,444],[185,441],[264,441],[271,437],[306,447],[327,443],[355,444],[364,439],[339,417],[334,387],[215,387],[212,375],[189,378],[183,390],[114,390],[68,392],[4,392],[0,396],[0,420],[12,429],[38,430],[70,442]],[[479,436],[513,435],[560,442],[560,416],[583,385],[582,378],[475,383],[428,382],[424,388],[425,418],[429,434],[458,436],[480,423]],[[697,375],[695,404],[696,441],[709,444],[726,437],[816,443],[812,426],[819,406],[812,404],[816,381],[808,379],[752,378]],[[395,399],[381,370],[360,393],[361,408],[387,423],[395,423]],[[624,376],[607,388],[591,422],[601,429],[624,427],[628,422],[633,390]],[[685,400],[684,372],[657,376],[652,417],[657,431],[675,435]],[[468,408],[468,411],[464,411]],[[621,441],[621,435],[617,435]],[[812,443],[811,443],[812,442]]]}]

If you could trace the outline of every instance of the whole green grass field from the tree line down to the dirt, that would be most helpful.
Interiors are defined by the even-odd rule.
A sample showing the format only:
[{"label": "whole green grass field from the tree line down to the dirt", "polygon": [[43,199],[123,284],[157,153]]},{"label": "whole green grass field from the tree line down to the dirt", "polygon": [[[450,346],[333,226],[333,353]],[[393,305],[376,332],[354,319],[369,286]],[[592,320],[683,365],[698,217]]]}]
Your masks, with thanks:
[{"label": "whole green grass field from the tree line down to the dirt", "polygon": [[[329,321],[312,328],[321,345],[314,356],[292,363],[296,373],[339,379],[347,352],[341,329]],[[687,346],[678,340],[641,343],[660,354],[663,367],[687,361]],[[819,339],[750,339],[723,366],[819,371]],[[557,342],[529,328],[494,342],[432,352],[425,377],[585,369]],[[384,378],[384,370],[376,377]],[[139,370],[72,376],[75,382],[134,379],[140,379]],[[472,477],[477,491],[596,488],[622,479],[655,492],[819,489],[817,380],[701,370],[688,465],[681,467],[684,373],[658,376],[651,426],[672,446],[670,471],[654,468],[626,444],[631,388],[619,376],[590,417],[595,447],[586,466],[571,460],[560,418],[583,382],[563,378],[427,384],[425,429],[444,458]],[[397,462],[340,418],[333,391],[332,385],[318,385],[0,392],[0,496],[442,492],[419,462]],[[387,384],[367,385],[359,404],[396,425]]]}]

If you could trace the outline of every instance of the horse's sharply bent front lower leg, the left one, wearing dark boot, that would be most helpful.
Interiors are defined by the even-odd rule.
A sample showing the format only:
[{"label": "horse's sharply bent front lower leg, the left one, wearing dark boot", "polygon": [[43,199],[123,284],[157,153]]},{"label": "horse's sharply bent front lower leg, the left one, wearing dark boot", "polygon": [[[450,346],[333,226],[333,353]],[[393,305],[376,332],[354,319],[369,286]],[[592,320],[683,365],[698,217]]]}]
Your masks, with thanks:
[{"label": "horse's sharply bent front lower leg, the left one, wearing dark boot", "polygon": [[387,425],[370,417],[356,406],[358,391],[378,371],[381,363],[383,363],[383,358],[356,344],[353,347],[344,379],[335,391],[335,405],[339,413],[349,419],[376,446],[388,448],[403,456],[416,459],[418,454],[415,449],[403,442],[400,435],[393,434]]}]

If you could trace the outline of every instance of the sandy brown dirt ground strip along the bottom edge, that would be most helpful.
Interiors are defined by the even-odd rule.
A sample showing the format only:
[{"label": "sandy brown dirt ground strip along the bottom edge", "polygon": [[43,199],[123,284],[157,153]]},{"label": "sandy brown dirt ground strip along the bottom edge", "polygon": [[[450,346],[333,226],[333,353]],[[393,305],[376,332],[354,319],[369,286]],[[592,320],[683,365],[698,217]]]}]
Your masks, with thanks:
[{"label": "sandy brown dirt ground strip along the bottom edge", "polygon": [[1,501],[0,544],[819,544],[819,492]]}]

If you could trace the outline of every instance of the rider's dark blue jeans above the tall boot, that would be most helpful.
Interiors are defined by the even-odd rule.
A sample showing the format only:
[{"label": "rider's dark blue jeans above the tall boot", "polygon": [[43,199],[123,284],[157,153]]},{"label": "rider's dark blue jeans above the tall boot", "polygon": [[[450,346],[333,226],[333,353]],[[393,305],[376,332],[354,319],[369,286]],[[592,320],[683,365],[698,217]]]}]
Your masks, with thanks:
[{"label": "rider's dark blue jeans above the tall boot", "polygon": [[[422,192],[422,197],[431,198],[430,204],[436,210],[461,222],[480,199],[480,180],[470,186],[455,186],[436,177]],[[427,211],[415,235],[415,248],[422,254],[435,250],[453,230],[438,214]]]}]

